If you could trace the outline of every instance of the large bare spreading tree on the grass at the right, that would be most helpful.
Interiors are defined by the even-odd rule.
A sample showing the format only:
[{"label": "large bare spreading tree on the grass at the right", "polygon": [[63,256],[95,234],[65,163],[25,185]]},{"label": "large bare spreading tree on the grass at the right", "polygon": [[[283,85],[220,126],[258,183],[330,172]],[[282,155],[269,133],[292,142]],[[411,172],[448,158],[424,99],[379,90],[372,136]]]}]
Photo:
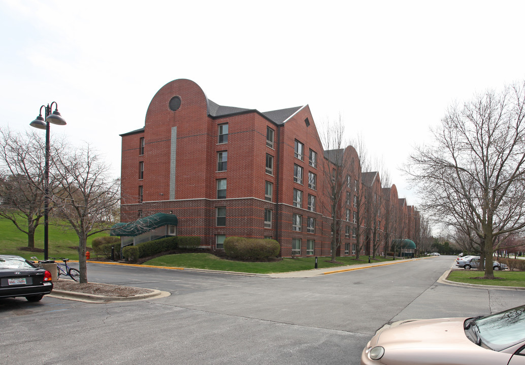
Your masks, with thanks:
[{"label": "large bare spreading tree on the grass at the right", "polygon": [[425,211],[479,238],[486,278],[496,237],[525,227],[524,105],[522,82],[451,106],[435,144],[417,148],[405,166]]}]

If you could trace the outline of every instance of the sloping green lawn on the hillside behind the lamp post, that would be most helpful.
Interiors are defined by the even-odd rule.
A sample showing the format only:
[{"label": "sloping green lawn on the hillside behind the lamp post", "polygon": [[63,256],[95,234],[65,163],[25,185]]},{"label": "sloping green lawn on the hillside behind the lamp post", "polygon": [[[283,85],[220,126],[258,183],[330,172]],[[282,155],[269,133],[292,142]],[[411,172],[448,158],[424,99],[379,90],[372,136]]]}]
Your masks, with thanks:
[{"label": "sloping green lawn on the hillside behind the lamp post", "polygon": [[[27,234],[20,232],[10,220],[0,219],[0,232],[0,254],[18,255],[25,259],[36,256],[39,260],[44,260],[44,252],[20,250],[27,247]],[[92,251],[91,240],[103,235],[109,233],[98,233],[88,238],[88,251]],[[61,227],[49,226],[49,256],[78,260],[77,247],[78,236],[72,228],[65,230]],[[44,250],[44,224],[40,224],[35,232],[35,248]]]}]

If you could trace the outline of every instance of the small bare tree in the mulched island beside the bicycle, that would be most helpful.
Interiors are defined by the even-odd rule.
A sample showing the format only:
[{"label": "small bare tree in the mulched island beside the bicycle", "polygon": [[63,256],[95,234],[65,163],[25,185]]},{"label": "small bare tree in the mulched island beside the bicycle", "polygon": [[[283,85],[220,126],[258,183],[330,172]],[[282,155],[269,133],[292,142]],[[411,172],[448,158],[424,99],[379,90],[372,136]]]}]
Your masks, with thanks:
[{"label": "small bare tree in the mulched island beside the bicycle", "polygon": [[80,283],[87,283],[87,239],[118,221],[120,180],[109,176],[109,166],[89,145],[61,154],[55,167],[55,209],[78,235]]}]

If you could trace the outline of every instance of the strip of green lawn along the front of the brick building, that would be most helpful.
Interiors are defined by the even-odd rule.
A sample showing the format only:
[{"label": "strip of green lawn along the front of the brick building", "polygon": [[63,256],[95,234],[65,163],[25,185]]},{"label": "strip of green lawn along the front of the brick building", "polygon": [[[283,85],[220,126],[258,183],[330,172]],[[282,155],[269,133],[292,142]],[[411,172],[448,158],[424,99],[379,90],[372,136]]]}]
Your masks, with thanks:
[{"label": "strip of green lawn along the front of the brick building", "polygon": [[[330,257],[319,257],[317,265],[319,269],[338,267],[343,265],[355,265],[368,263],[368,256],[360,256],[360,260],[355,257],[337,257],[340,263],[330,263]],[[391,261],[387,259],[386,261]],[[385,261],[382,257],[372,262]],[[297,259],[282,259],[275,262],[242,262],[220,259],[209,253],[182,253],[176,255],[165,255],[144,262],[144,265],[169,266],[169,267],[188,267],[192,269],[207,269],[220,271],[234,271],[244,273],[270,274],[284,273],[290,271],[310,270],[314,268],[314,257],[300,257]]]}]

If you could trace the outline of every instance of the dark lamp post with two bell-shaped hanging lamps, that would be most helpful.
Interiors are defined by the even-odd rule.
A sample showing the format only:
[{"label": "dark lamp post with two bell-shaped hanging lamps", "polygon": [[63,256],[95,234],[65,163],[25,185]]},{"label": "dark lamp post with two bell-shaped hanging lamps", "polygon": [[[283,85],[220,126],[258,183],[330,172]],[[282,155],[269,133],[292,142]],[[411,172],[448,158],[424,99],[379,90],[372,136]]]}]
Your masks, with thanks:
[{"label": "dark lamp post with two bell-shaped hanging lamps", "polygon": [[[55,111],[51,113],[53,104],[55,104]],[[42,117],[42,108],[45,109],[45,120]],[[46,165],[44,170],[44,260],[49,258],[49,153],[51,150],[49,146],[49,123],[66,125],[66,121],[58,112],[58,104],[55,101],[52,102],[51,105],[47,104],[47,106],[40,106],[40,114],[33,122],[29,123],[31,127],[46,130]]]}]

